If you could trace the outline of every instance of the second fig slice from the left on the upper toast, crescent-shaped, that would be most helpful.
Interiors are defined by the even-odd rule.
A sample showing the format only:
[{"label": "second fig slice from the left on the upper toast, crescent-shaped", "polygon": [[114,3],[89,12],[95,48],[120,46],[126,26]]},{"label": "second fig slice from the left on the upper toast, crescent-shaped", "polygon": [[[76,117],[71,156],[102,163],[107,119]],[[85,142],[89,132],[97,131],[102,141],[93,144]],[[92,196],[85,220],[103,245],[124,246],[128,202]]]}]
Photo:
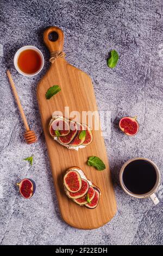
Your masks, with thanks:
[{"label": "second fig slice from the left on the upper toast, crescent-shaped", "polygon": [[68,133],[68,135],[58,137],[59,141],[65,145],[69,144],[77,134],[77,124],[74,121],[70,121],[69,127],[70,132]]}]

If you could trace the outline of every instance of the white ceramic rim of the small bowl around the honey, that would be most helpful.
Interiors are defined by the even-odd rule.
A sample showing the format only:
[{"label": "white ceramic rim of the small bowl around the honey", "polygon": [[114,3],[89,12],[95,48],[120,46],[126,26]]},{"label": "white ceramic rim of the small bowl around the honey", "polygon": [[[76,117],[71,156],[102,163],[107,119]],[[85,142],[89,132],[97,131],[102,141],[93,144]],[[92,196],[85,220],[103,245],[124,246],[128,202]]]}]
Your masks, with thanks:
[{"label": "white ceramic rim of the small bowl around the honey", "polygon": [[[32,49],[32,50],[35,50],[37,53],[39,53],[40,57],[41,57],[41,66],[40,66],[40,69],[33,73],[33,74],[26,74],[24,73],[23,71],[20,70],[20,68],[18,67],[17,65],[17,60],[18,60],[18,56],[20,55],[21,52],[23,52],[24,50],[29,50],[29,49]],[[43,54],[42,52],[35,46],[32,46],[32,45],[26,45],[26,46],[23,46],[21,47],[19,50],[17,50],[17,52],[15,53],[15,56],[14,56],[14,66],[15,66],[15,69],[23,76],[35,76],[37,74],[40,73],[40,71],[42,70],[43,68],[43,65],[44,65],[44,58],[43,58]]]}]

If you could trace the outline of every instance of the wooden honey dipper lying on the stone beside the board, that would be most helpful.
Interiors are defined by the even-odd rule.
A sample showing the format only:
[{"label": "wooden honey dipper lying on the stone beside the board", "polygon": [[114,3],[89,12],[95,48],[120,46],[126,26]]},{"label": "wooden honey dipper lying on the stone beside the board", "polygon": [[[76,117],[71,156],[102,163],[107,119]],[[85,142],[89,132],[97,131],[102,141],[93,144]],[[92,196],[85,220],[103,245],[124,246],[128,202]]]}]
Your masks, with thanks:
[{"label": "wooden honey dipper lying on the stone beside the board", "polygon": [[20,113],[21,113],[21,116],[22,116],[22,120],[23,120],[23,123],[24,123],[24,126],[26,127],[26,133],[24,134],[24,139],[25,141],[27,142],[27,144],[32,144],[32,143],[35,143],[37,141],[37,137],[35,135],[35,132],[34,131],[31,131],[29,129],[29,125],[27,123],[27,119],[26,119],[26,115],[24,114],[24,111],[23,111],[23,108],[22,108],[22,105],[21,105],[21,102],[20,102],[20,99],[17,95],[17,92],[16,92],[16,87],[15,87],[15,84],[14,84],[14,81],[12,79],[12,76],[11,76],[11,73],[9,70],[7,70],[7,76],[9,78],[9,82],[10,82],[10,85],[12,87],[12,91],[14,93],[14,96],[15,96],[15,100],[17,102],[17,106],[18,106],[18,109],[20,110]]}]

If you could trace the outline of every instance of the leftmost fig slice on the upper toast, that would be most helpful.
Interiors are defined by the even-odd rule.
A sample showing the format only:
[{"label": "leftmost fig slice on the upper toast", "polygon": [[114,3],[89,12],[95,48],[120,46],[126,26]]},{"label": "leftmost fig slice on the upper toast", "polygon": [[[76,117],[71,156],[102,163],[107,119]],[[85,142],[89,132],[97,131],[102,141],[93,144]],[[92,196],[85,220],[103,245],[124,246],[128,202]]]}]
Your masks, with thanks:
[{"label": "leftmost fig slice on the upper toast", "polygon": [[66,136],[70,133],[70,126],[64,118],[57,117],[50,123],[49,132],[52,137]]}]

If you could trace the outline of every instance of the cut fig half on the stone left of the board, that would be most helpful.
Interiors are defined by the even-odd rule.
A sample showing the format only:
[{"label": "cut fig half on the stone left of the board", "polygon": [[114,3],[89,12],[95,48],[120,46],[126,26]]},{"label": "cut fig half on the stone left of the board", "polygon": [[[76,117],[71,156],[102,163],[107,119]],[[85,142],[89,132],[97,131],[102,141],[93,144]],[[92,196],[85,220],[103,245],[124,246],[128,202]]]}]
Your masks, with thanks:
[{"label": "cut fig half on the stone left of the board", "polygon": [[21,196],[26,199],[31,198],[36,189],[36,184],[32,179],[23,179],[16,185],[19,188]]}]

